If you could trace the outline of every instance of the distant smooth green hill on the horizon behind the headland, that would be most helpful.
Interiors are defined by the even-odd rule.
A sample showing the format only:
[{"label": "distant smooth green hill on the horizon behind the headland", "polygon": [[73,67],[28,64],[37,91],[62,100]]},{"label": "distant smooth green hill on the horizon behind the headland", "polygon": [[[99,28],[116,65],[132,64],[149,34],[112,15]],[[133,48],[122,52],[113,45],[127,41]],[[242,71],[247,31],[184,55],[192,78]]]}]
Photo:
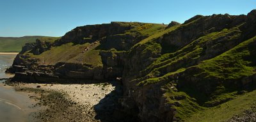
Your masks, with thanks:
[{"label": "distant smooth green hill on the horizon behind the headland", "polygon": [[0,37],[0,52],[19,52],[25,43],[47,36]]}]

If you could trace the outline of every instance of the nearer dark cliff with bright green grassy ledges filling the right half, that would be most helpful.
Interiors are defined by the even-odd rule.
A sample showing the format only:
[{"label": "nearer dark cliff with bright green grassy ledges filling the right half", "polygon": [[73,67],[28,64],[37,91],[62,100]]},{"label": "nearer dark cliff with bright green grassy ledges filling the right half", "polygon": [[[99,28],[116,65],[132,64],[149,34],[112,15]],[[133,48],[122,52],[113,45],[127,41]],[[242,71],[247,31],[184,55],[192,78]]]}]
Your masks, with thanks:
[{"label": "nearer dark cliff with bright green grassy ledges filling the right half", "polygon": [[227,102],[217,96],[228,90],[255,86],[254,13],[196,16],[134,46],[125,60],[124,100],[134,100],[142,121],[173,121],[189,116],[188,108]]}]

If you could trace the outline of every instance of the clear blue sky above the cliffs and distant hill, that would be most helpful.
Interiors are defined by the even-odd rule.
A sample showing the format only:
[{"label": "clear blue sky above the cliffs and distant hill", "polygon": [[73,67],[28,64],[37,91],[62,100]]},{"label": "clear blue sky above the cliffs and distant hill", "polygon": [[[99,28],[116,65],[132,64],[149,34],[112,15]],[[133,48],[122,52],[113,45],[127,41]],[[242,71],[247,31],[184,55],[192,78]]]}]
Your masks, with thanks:
[{"label": "clear blue sky above the cliffs and distant hill", "polygon": [[195,15],[246,15],[256,0],[0,0],[0,36],[63,36],[111,21],[168,24]]}]

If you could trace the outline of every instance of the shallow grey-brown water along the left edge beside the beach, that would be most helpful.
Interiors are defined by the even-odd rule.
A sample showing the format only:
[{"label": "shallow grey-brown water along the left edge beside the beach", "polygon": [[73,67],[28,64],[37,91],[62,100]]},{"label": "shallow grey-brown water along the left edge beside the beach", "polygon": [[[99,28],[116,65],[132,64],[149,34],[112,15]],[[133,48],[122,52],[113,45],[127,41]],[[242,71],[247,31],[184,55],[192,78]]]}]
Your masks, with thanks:
[{"label": "shallow grey-brown water along the left edge beside the beach", "polygon": [[[12,65],[16,55],[0,55],[0,78],[10,78],[11,74],[4,71]],[[29,113],[35,101],[28,97],[27,93],[15,92],[12,86],[4,86],[0,81],[0,121],[4,122],[24,122],[31,121]]]}]

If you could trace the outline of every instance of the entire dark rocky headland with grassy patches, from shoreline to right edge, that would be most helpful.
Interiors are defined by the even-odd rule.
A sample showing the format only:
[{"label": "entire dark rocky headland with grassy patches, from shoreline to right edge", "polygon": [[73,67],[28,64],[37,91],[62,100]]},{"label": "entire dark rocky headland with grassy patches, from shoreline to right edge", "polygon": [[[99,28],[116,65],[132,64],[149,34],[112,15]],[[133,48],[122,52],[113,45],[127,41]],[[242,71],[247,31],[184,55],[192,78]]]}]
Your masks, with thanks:
[{"label": "entire dark rocky headland with grassy patches, from shoreline to right edge", "polygon": [[141,121],[182,121],[256,85],[256,11],[195,17],[184,24],[86,25],[26,44],[14,81],[121,79],[120,100]]}]

